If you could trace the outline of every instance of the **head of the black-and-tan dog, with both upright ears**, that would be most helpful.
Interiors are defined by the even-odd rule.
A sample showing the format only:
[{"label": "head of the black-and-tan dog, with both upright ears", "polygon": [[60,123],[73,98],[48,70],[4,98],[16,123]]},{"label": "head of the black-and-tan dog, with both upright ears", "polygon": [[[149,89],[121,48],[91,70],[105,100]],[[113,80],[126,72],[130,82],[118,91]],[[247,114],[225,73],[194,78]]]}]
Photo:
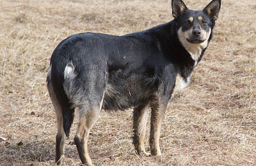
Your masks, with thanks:
[{"label": "head of the black-and-tan dog, with both upright ears", "polygon": [[204,10],[195,11],[189,10],[182,0],[172,0],[172,15],[184,47],[191,44],[200,45],[202,49],[207,47],[220,6],[221,0],[213,0]]}]

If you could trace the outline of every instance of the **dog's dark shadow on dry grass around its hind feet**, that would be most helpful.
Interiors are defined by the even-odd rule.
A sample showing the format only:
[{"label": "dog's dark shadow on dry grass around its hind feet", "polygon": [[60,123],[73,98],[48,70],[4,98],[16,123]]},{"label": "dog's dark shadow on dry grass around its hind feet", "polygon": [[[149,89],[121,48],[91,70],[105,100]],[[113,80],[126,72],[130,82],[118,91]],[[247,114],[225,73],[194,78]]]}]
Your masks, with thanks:
[{"label": "dog's dark shadow on dry grass around its hind feet", "polygon": [[[97,155],[93,158],[104,158],[111,155],[93,149]],[[4,165],[54,165],[55,164],[55,142],[53,140],[31,140],[31,141],[1,141],[0,144],[1,159],[0,163]],[[76,145],[73,140],[67,140],[65,143],[65,162],[79,162]],[[75,161],[76,160],[76,161]],[[1,165],[0,164],[0,165]]]}]

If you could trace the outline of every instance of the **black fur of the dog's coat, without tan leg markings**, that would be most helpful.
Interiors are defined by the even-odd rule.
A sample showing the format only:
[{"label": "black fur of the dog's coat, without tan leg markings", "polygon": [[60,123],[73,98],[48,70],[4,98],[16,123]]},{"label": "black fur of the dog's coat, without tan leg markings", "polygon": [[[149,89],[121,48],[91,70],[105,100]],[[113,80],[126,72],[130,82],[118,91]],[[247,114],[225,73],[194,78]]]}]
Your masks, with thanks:
[{"label": "black fur of the dog's coat, without tan leg markings", "polygon": [[[209,32],[211,29],[212,32],[215,25],[212,19],[214,15],[208,14],[206,9],[193,11],[182,3],[180,0],[172,1],[175,5],[175,20],[146,31],[124,36],[80,33],[61,41],[51,57],[47,84],[51,98],[56,96],[61,106],[63,128],[67,136],[74,119],[74,108],[79,107],[80,112],[87,114],[87,110],[100,107],[103,96],[101,108],[105,110],[134,107],[134,110],[141,111],[149,103],[153,118],[151,135],[155,134],[154,125],[160,122],[154,116],[163,116],[165,110],[159,109],[166,108],[177,75],[188,82],[189,75],[207,48],[202,49],[198,59],[193,59],[180,42],[179,29],[184,33],[193,27],[201,27],[202,31]],[[212,3],[220,1],[214,0]],[[199,16],[204,18],[206,25],[201,25],[197,19]],[[195,18],[193,24],[185,24],[189,17]],[[211,38],[212,33],[207,40]],[[134,114],[140,115],[141,112]],[[138,119],[134,123],[136,121]],[[134,144],[140,139],[136,131],[134,128]],[[155,139],[150,137],[150,146]],[[76,142],[82,144],[83,141],[76,137]],[[77,148],[81,154],[84,153],[81,146]],[[158,153],[157,149],[152,150],[153,155]],[[88,159],[81,154],[79,156],[84,163]]]}]

